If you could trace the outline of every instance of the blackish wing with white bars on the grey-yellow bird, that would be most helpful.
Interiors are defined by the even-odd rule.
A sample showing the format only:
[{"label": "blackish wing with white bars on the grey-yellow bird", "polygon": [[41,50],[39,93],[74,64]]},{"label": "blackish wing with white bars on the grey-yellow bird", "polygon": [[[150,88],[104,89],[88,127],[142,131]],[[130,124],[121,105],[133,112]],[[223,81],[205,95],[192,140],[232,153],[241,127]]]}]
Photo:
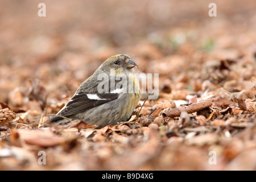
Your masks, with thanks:
[{"label": "blackish wing with white bars on the grey-yellow bird", "polygon": [[81,113],[88,109],[92,109],[93,107],[116,100],[118,96],[118,93],[77,93],[68,101],[67,105],[65,105],[59,113],[52,118],[49,118],[48,121],[53,122],[61,119],[58,115],[68,117],[69,115]]}]

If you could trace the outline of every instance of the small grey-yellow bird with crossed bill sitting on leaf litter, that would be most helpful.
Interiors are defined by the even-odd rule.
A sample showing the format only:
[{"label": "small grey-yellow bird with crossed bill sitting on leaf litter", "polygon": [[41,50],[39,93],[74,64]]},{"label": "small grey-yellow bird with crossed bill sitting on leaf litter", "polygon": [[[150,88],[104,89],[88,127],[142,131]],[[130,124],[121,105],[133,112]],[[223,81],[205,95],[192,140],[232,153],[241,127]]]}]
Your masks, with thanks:
[{"label": "small grey-yellow bird with crossed bill sitting on leaf litter", "polygon": [[79,119],[101,129],[128,121],[141,97],[135,66],[139,68],[129,55],[109,57],[82,82],[71,100],[49,118],[46,125]]}]

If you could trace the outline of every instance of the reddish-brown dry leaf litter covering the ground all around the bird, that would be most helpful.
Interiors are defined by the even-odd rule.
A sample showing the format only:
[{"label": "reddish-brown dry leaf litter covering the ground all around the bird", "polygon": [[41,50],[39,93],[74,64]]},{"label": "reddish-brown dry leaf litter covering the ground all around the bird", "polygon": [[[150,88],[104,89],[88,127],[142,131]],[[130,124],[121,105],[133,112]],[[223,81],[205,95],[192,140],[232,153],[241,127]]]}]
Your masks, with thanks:
[{"label": "reddish-brown dry leaf litter covering the ground all around the bird", "polygon": [[[255,2],[218,2],[216,18],[205,2],[188,10],[162,1],[179,7],[166,18],[143,1],[136,9],[126,6],[133,1],[101,2],[105,9],[94,1],[47,3],[55,9],[42,19],[36,2],[16,11],[15,2],[1,1],[1,170],[256,169]],[[115,126],[40,127],[120,52],[133,57],[137,73],[159,73],[157,100],[143,105],[143,94],[130,120]]]}]

